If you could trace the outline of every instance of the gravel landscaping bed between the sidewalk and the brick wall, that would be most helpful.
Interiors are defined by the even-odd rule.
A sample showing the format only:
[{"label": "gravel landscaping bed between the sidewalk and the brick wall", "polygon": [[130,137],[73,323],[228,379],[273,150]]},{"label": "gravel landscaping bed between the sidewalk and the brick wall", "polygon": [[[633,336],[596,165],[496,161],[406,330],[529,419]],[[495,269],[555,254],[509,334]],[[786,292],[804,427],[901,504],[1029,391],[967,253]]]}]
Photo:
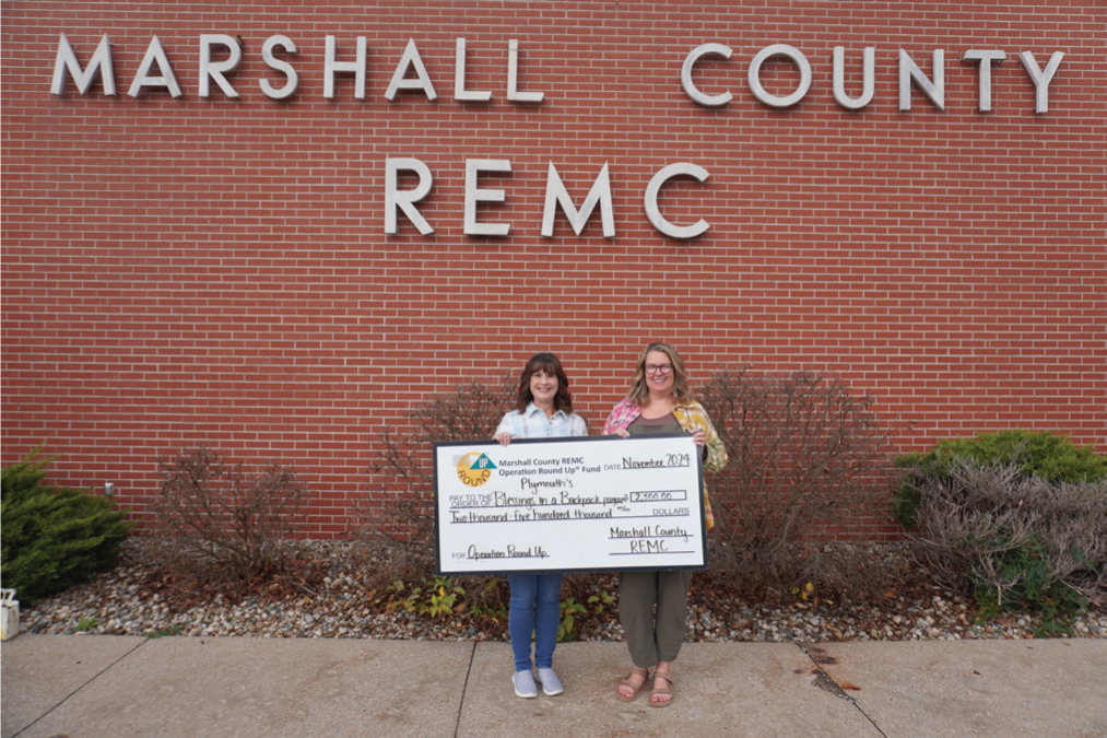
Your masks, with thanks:
[{"label": "gravel landscaping bed between the sidewalk and the brick wall", "polygon": [[[145,544],[131,541],[120,565],[87,584],[24,608],[22,627],[30,633],[120,635],[260,636],[270,638],[399,638],[417,640],[507,639],[506,617],[462,613],[446,617],[393,608],[381,594],[366,591],[364,570],[372,560],[354,556],[352,544],[306,542],[301,558],[325,574],[311,585],[284,585],[230,602],[223,595],[182,597],[152,587]],[[361,563],[356,563],[361,561]],[[276,588],[276,587],[275,587]],[[289,592],[291,590],[291,592]],[[614,577],[602,591],[615,594]],[[796,598],[787,604],[744,602],[696,593],[689,599],[691,642],[820,642],[1033,638],[1042,618],[1003,615],[976,622],[974,605],[938,587],[919,587],[880,606],[844,605]],[[589,607],[596,607],[594,604]],[[622,640],[622,628],[608,606],[578,618],[578,640]],[[1036,633],[1037,632],[1037,633]],[[1080,614],[1070,633],[1056,637],[1107,637],[1107,612]]]}]

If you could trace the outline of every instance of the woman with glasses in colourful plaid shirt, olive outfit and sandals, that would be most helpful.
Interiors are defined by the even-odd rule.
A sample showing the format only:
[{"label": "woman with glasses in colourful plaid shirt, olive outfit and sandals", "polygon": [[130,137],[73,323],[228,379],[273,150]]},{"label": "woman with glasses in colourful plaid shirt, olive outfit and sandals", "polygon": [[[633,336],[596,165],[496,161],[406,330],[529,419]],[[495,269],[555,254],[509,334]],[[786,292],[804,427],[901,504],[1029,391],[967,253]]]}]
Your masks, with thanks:
[{"label": "woman with glasses in colourful plaid shirt, olive outfit and sandals", "polygon": [[[603,424],[604,434],[623,438],[651,433],[691,433],[702,450],[703,468],[717,472],[726,464],[726,448],[703,406],[689,391],[684,361],[672,346],[645,347],[627,398]],[[707,530],[713,519],[704,493]],[[669,707],[673,699],[672,663],[684,643],[686,603],[692,572],[687,570],[619,573],[619,621],[633,667],[615,696],[632,701],[645,688],[653,668],[650,707]]]}]

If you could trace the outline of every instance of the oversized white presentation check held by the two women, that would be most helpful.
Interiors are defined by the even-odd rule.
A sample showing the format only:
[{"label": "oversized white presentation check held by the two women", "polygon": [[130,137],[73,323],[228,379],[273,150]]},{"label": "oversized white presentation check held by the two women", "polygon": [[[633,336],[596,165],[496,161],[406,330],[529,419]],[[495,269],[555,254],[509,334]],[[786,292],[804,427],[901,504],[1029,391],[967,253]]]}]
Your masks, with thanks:
[{"label": "oversized white presentation check held by the two women", "polygon": [[439,574],[705,568],[691,435],[434,444]]}]

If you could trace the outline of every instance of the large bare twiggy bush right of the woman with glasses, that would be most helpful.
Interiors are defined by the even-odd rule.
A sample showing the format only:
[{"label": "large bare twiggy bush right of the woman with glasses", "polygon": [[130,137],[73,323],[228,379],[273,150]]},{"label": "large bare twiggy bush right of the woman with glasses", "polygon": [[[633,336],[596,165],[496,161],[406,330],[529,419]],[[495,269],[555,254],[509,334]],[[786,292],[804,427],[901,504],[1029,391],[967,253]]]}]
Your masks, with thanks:
[{"label": "large bare twiggy bush right of the woman with glasses", "polygon": [[730,454],[708,480],[716,565],[755,585],[882,593],[891,572],[858,577],[863,547],[831,545],[847,521],[888,514],[892,430],[873,398],[823,373],[748,368],[714,375],[697,396]]}]

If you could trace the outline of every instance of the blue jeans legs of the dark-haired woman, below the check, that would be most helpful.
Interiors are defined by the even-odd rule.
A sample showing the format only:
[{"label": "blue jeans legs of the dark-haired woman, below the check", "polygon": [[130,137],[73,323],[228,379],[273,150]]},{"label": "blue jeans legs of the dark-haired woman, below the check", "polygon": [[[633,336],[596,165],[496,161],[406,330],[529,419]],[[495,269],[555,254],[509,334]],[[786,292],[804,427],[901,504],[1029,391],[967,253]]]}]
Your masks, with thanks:
[{"label": "blue jeans legs of the dark-haired woman, below the check", "polygon": [[560,621],[561,574],[508,574],[511,608],[507,632],[515,652],[515,670],[530,670],[530,634],[535,634],[535,665],[554,668],[557,626]]}]

